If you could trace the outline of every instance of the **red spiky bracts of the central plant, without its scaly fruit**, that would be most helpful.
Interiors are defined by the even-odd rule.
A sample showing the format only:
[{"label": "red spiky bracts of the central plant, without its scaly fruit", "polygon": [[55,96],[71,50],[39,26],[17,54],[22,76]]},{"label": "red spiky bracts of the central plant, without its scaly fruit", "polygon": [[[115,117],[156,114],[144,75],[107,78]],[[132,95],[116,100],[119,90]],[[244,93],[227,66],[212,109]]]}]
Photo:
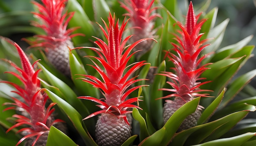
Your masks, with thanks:
[{"label": "red spiky bracts of the central plant, without its scaly fruit", "polygon": [[[99,57],[88,57],[97,59],[104,67],[106,72],[104,72],[103,69],[101,69],[101,67],[97,65],[97,63],[93,62],[95,66],[92,67],[98,71],[103,81],[92,75],[83,75],[86,77],[85,79],[83,79],[83,81],[92,84],[96,88],[100,88],[101,91],[103,91],[102,93],[106,100],[98,100],[93,97],[85,96],[79,98],[97,102],[101,104],[99,105],[99,107],[103,109],[89,115],[85,119],[88,119],[100,113],[111,113],[117,117],[124,117],[124,119],[128,123],[126,119],[126,114],[131,112],[128,110],[128,108],[139,108],[138,106],[135,106],[131,103],[140,100],[138,99],[138,97],[126,100],[126,97],[128,97],[128,95],[132,91],[135,91],[137,88],[141,86],[146,86],[141,85],[128,89],[131,84],[139,82],[141,80],[146,80],[135,80],[136,77],[130,78],[130,76],[132,75],[132,73],[137,71],[137,69],[147,63],[145,63],[145,61],[141,61],[130,64],[129,66],[127,66],[127,63],[132,55],[136,53],[134,52],[130,54],[132,49],[137,44],[147,39],[141,39],[131,45],[125,46],[126,42],[132,37],[132,35],[130,35],[126,37],[123,41],[121,41],[123,31],[128,21],[124,21],[120,29],[118,26],[118,20],[115,24],[115,15],[114,17],[112,17],[112,15],[110,14],[110,17],[108,17],[108,21],[109,27],[107,26],[106,22],[103,21],[107,31],[105,31],[103,27],[99,25],[106,39],[108,40],[108,44],[106,44],[103,40],[94,37],[97,39],[97,41],[95,41],[94,43],[97,44],[99,48],[85,47],[94,50],[99,55]],[[124,70],[127,68],[129,68],[128,71],[124,72]]]}]

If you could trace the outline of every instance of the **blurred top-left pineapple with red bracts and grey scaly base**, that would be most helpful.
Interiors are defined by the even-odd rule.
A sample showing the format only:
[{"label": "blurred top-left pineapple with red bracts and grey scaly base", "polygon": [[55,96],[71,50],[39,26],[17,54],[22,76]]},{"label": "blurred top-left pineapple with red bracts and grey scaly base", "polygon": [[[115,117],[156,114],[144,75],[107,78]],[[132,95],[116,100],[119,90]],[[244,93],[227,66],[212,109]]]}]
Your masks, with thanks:
[{"label": "blurred top-left pineapple with red bracts and grey scaly base", "polygon": [[64,75],[70,76],[69,51],[74,48],[71,38],[80,33],[71,34],[76,28],[67,29],[68,22],[74,13],[64,13],[67,0],[41,0],[42,4],[33,1],[38,7],[38,13],[32,12],[40,22],[32,25],[40,27],[45,35],[35,35],[31,47],[41,47],[45,50],[47,59]]}]

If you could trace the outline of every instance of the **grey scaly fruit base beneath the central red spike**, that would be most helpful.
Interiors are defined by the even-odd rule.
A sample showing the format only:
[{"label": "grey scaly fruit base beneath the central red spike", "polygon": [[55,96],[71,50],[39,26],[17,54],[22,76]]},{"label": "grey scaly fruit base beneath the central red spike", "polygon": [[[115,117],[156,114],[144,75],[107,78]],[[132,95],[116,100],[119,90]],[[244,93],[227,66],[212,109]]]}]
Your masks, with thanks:
[{"label": "grey scaly fruit base beneath the central red spike", "polygon": [[95,131],[99,146],[121,146],[131,136],[131,126],[108,113],[99,117]]}]

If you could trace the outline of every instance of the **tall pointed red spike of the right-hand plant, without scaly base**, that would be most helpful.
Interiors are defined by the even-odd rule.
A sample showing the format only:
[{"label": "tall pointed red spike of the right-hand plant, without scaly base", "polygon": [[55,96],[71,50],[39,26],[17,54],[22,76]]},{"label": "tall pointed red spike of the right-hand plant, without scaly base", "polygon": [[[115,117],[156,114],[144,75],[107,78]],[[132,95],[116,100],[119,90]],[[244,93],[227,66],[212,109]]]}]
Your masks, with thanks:
[{"label": "tall pointed red spike of the right-hand plant, without scaly base", "polygon": [[[199,15],[195,16],[193,4],[192,2],[190,2],[189,10],[186,15],[186,25],[183,26],[180,22],[177,23],[177,25],[182,30],[178,31],[181,34],[182,38],[180,38],[178,35],[175,35],[175,40],[177,40],[180,45],[172,43],[172,45],[174,46],[173,50],[177,53],[177,55],[168,52],[167,56],[170,61],[173,62],[175,66],[173,70],[176,72],[176,74],[171,72],[163,72],[162,74],[160,74],[169,77],[173,81],[175,81],[173,83],[168,82],[168,84],[173,86],[174,89],[172,91],[176,94],[168,95],[162,98],[175,97],[176,95],[179,95],[179,97],[183,98],[183,100],[188,102],[191,100],[191,97],[193,97],[192,94],[199,95],[198,91],[202,91],[199,89],[200,85],[208,83],[198,82],[198,77],[200,77],[200,75],[205,70],[209,69],[204,67],[208,64],[205,64],[204,66],[198,68],[202,59],[204,59],[207,55],[203,56],[202,58],[198,58],[198,56],[200,52],[204,49],[204,47],[209,45],[207,44],[202,46],[202,43],[207,40],[202,40],[201,42],[199,41],[202,36],[202,34],[199,34],[199,31],[202,24],[206,21],[201,20],[199,23],[197,23]],[[168,89],[161,90],[167,91]],[[202,95],[202,97],[209,97],[207,94],[200,95]]]}]

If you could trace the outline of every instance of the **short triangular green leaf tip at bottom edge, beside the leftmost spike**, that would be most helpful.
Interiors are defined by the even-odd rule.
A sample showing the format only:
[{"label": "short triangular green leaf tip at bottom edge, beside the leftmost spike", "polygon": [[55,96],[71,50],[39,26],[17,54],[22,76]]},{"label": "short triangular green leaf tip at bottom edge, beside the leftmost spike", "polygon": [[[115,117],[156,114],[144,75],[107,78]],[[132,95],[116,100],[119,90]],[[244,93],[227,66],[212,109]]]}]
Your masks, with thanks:
[{"label": "short triangular green leaf tip at bottom edge, beside the leftmost spike", "polygon": [[47,138],[46,146],[77,146],[76,143],[70,139],[67,135],[65,135],[63,132],[55,128],[54,126],[51,126],[49,135]]}]

